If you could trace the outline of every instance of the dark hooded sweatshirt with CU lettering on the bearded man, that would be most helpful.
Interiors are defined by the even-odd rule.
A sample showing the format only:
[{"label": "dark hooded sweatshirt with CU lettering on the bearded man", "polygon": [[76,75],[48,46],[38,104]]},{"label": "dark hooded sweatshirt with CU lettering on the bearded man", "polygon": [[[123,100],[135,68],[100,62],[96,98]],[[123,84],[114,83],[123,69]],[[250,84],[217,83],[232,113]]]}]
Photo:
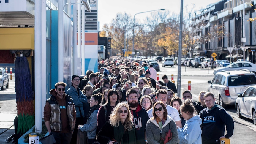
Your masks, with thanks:
[{"label": "dark hooded sweatshirt with CU lettering on the bearded man", "polygon": [[135,126],[136,135],[140,144],[146,143],[145,142],[145,131],[147,121],[149,119],[147,111],[138,104],[136,110],[131,110],[133,115],[133,124]]}]

